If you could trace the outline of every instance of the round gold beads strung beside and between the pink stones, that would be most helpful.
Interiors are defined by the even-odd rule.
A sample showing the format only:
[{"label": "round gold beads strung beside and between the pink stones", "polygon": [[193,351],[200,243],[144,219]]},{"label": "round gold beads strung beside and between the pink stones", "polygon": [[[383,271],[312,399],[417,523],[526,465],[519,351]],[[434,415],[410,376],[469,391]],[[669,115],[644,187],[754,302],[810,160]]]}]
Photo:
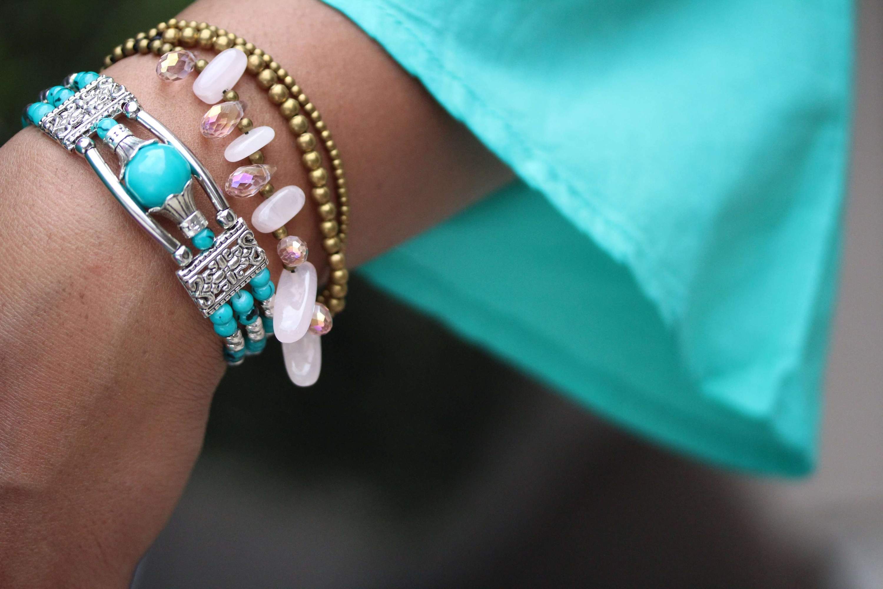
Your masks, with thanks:
[{"label": "round gold beads strung beside and between the pink stones", "polygon": [[[346,269],[346,236],[349,230],[350,199],[347,192],[346,175],[343,171],[343,161],[340,150],[328,130],[328,125],[322,120],[321,114],[315,108],[313,102],[295,82],[291,74],[277,64],[273,57],[262,49],[246,42],[236,34],[228,33],[223,28],[208,25],[205,22],[197,23],[170,19],[161,22],[147,33],[139,33],[123,44],[117,45],[109,56],[104,58],[104,67],[109,67],[125,57],[135,54],[147,55],[154,53],[162,55],[169,51],[198,46],[201,49],[224,49],[235,48],[243,51],[248,56],[246,72],[251,73],[258,81],[260,87],[265,89],[270,102],[279,106],[279,113],[287,120],[288,128],[296,138],[298,149],[303,153],[301,162],[307,171],[310,184],[313,185],[311,194],[316,203],[321,223],[320,230],[323,236],[322,247],[328,253],[328,266],[331,268],[329,283],[316,301],[328,306],[332,314],[343,311],[346,305],[347,283],[349,271]],[[202,71],[207,62],[200,59],[196,63],[196,69]],[[238,97],[238,95],[237,95]],[[301,110],[306,113],[301,114]],[[245,125],[243,125],[245,123]],[[244,118],[238,128],[246,132],[251,121]],[[324,144],[331,167],[334,170],[333,177],[336,187],[335,206],[331,190],[328,187],[330,177],[328,169],[322,163],[322,157],[317,151],[316,134],[310,132],[311,125],[315,133]],[[260,163],[263,155],[260,152],[249,157],[253,163]],[[274,192],[272,184],[265,185],[260,193],[269,197]],[[273,233],[277,239],[288,235],[284,227]]]}]

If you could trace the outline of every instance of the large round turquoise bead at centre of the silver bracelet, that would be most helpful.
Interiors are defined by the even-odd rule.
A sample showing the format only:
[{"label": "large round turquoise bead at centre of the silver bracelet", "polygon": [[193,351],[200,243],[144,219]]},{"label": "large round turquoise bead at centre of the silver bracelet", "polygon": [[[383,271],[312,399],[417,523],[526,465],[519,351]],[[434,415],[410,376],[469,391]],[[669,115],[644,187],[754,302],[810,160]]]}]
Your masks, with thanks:
[{"label": "large round turquoise bead at centre of the silver bracelet", "polygon": [[190,164],[164,143],[141,147],[123,172],[126,188],[144,208],[162,207],[170,194],[184,190],[188,180]]}]

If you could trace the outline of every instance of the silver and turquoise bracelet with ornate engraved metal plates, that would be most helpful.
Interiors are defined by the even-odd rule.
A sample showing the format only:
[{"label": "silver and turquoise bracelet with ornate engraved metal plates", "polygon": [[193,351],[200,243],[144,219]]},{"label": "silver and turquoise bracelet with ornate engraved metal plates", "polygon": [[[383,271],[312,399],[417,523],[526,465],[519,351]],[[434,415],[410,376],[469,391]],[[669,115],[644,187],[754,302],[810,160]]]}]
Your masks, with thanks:
[{"label": "silver and turquoise bracelet with ornate engraved metal plates", "polygon": [[[156,139],[140,139],[117,123],[115,119],[123,114]],[[254,325],[258,316],[255,295],[245,286],[250,283],[255,293],[266,288],[266,254],[245,221],[227,204],[208,170],[132,93],[108,76],[79,72],[68,76],[63,86],[43,92],[40,102],[28,105],[26,117],[26,122],[62,147],[83,155],[126,211],[172,255],[181,267],[178,280],[223,337],[224,358],[230,364],[241,363],[246,352],[264,348],[260,321]],[[91,139],[93,134],[117,155],[118,174],[105,162]],[[215,221],[223,230],[216,238],[208,229],[208,218],[193,200],[194,177],[208,195]],[[172,219],[200,253],[194,256],[156,222],[155,215]]]}]

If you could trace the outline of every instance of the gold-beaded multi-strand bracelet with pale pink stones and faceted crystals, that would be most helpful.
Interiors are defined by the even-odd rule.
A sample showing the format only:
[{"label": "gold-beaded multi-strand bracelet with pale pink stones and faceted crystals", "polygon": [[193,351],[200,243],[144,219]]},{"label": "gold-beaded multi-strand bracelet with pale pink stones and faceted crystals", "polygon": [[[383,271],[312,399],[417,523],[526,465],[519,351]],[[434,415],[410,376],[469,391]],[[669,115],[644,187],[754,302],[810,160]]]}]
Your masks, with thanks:
[{"label": "gold-beaded multi-strand bracelet with pale pink stones and faceted crystals", "polygon": [[[203,49],[211,48],[220,53],[209,64],[206,60],[196,60],[182,46],[173,44],[177,42],[182,46],[199,45]],[[234,34],[206,23],[179,23],[177,19],[171,19],[118,46],[105,59],[105,64],[112,64],[135,53],[150,52],[162,54],[160,64],[157,65],[157,73],[162,79],[182,79],[186,75],[182,76],[182,72],[196,69],[200,72],[200,77],[194,82],[194,93],[204,102],[214,103],[221,98],[226,101],[215,104],[206,117],[214,121],[221,117],[226,121],[227,128],[230,128],[230,113],[234,117],[238,115],[236,126],[245,136],[234,140],[225,150],[225,156],[229,161],[238,161],[247,155],[252,166],[236,170],[231,178],[238,174],[252,175],[253,171],[266,178],[257,192],[267,197],[268,201],[255,210],[253,226],[262,232],[272,233],[280,240],[277,251],[283,260],[283,266],[288,270],[280,276],[276,304],[274,305],[272,298],[260,301],[264,326],[268,332],[275,329],[276,337],[283,342],[283,354],[291,380],[302,386],[312,384],[318,378],[321,367],[321,344],[316,336],[327,333],[332,325],[332,314],[343,310],[349,280],[343,252],[348,230],[349,198],[343,162],[335,141],[318,110],[288,72],[261,49]],[[290,236],[284,226],[303,205],[303,193],[296,186],[286,186],[276,192],[269,182],[272,170],[264,164],[260,147],[272,140],[275,133],[270,127],[254,129],[251,120],[243,117],[238,94],[232,90],[243,70],[255,75],[260,86],[268,90],[270,101],[279,105],[280,114],[288,121],[291,132],[296,135],[298,148],[304,152],[301,161],[313,185],[311,194],[321,217],[322,246],[328,253],[328,265],[331,268],[328,287],[318,297],[315,268],[306,262],[306,244],[299,238]],[[206,81],[200,81],[203,78]],[[301,109],[309,117],[300,114]],[[313,125],[324,142],[331,160],[339,207],[332,200],[328,170],[322,164],[316,135],[310,132],[310,125]],[[254,136],[249,137],[252,133]],[[247,153],[249,151],[251,153]],[[250,171],[248,168],[257,170]],[[251,194],[253,192],[250,190],[245,196]],[[300,200],[295,206],[292,203],[298,202],[298,197]],[[278,226],[271,229],[271,225],[265,226],[262,224],[264,222],[277,223]],[[301,263],[301,271],[295,272]]]}]

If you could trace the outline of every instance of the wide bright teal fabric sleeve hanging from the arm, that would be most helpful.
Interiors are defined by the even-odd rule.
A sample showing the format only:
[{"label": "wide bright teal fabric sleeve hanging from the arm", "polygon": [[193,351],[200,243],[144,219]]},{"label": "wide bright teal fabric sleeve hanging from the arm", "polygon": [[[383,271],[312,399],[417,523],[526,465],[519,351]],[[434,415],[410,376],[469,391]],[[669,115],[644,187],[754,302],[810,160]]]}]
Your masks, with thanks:
[{"label": "wide bright teal fabric sleeve hanging from the arm", "polygon": [[326,1],[519,178],[365,276],[632,432],[811,469],[849,2]]}]

